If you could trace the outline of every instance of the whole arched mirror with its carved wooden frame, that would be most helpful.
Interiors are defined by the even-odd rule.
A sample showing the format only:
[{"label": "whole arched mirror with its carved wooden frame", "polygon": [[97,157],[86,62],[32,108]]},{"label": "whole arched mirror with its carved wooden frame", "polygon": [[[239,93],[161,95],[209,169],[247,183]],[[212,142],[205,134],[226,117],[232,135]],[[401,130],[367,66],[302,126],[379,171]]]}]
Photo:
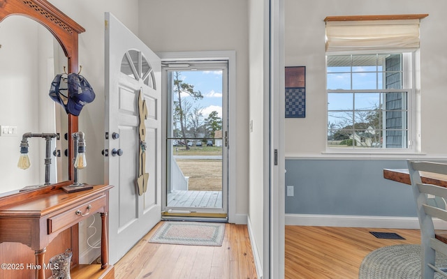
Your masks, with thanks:
[{"label": "whole arched mirror with its carved wooden frame", "polygon": [[[48,92],[64,67],[67,73],[78,71],[83,31],[47,1],[0,1],[0,198],[27,186],[52,190],[73,180],[73,143],[66,135],[78,130],[78,117],[67,115]],[[43,137],[28,139],[31,167],[17,167],[24,133],[60,135],[50,140],[49,169]]]}]

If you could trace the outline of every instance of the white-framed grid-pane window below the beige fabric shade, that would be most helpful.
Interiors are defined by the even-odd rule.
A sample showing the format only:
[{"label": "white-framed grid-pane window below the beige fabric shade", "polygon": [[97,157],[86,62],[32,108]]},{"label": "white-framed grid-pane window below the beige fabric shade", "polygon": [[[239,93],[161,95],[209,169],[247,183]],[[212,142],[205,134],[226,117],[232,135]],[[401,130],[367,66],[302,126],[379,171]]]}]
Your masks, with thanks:
[{"label": "white-framed grid-pane window below the beige fabric shade", "polygon": [[410,61],[409,53],[327,56],[328,147],[409,147]]}]

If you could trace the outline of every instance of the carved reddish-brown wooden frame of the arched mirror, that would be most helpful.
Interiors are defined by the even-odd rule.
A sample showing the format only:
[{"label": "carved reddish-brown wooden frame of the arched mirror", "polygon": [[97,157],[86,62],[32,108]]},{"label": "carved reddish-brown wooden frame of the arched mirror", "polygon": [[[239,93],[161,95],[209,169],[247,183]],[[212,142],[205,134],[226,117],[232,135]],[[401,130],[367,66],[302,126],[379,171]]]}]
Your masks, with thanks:
[{"label": "carved reddish-brown wooden frame of the arched mirror", "polygon": [[[78,73],[78,35],[85,32],[85,29],[70,17],[62,13],[46,0],[0,0],[0,22],[10,15],[22,15],[31,18],[42,24],[52,33],[64,50],[68,61],[68,73]],[[78,132],[78,116],[68,114],[68,135]],[[39,195],[48,193],[51,190],[59,189],[61,186],[73,183],[73,141],[68,140],[68,181],[61,181],[36,190],[21,192],[5,197],[0,197],[3,204],[4,199],[8,202],[15,202],[17,197],[22,199],[29,195]]]}]

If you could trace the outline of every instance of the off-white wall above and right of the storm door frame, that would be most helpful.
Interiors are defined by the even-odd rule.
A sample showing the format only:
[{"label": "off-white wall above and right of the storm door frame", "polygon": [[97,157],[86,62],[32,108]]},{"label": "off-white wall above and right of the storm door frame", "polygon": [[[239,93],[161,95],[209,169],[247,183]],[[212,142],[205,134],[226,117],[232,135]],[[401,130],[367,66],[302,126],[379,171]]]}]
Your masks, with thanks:
[{"label": "off-white wall above and right of the storm door frame", "polygon": [[236,51],[236,214],[248,213],[248,12],[241,0],[140,0],[140,39],[154,52]]}]

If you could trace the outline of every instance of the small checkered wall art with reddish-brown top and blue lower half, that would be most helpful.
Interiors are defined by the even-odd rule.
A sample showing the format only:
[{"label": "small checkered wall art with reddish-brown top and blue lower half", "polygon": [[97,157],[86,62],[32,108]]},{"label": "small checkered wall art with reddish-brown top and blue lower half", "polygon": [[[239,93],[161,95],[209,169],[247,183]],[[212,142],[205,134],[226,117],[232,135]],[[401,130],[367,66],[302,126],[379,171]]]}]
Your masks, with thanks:
[{"label": "small checkered wall art with reddish-brown top and blue lower half", "polygon": [[286,67],[286,118],[306,117],[306,67]]}]

